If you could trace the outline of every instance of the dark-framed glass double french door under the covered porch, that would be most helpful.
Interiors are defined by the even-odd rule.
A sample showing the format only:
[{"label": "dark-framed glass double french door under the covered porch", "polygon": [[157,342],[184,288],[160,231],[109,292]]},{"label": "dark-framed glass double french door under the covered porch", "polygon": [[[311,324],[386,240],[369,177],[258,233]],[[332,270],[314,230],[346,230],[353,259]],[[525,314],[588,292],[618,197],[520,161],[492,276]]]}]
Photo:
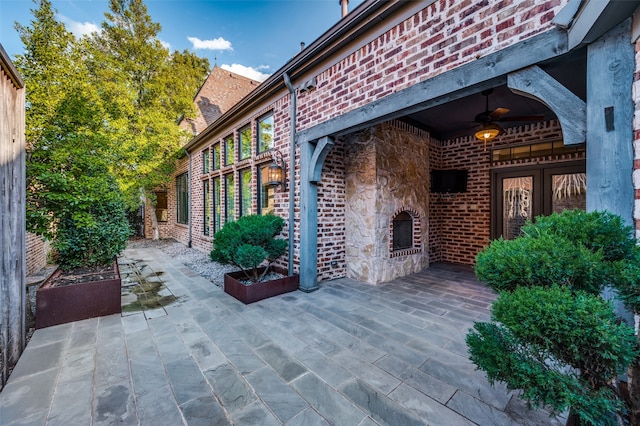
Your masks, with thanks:
[{"label": "dark-framed glass double french door under the covered porch", "polygon": [[491,237],[513,239],[527,220],[586,208],[584,162],[492,172]]}]

